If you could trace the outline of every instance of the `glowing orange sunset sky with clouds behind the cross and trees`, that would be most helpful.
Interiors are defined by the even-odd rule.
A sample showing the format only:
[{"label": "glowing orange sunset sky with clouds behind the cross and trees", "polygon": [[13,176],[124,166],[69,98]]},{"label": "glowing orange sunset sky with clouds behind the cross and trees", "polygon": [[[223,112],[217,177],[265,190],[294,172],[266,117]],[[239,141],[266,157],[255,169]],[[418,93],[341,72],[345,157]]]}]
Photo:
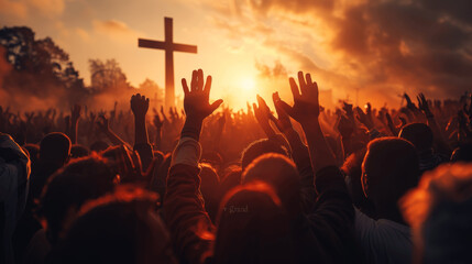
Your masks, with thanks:
[{"label": "glowing orange sunset sky with clouds behind the cross and trees", "polygon": [[[198,46],[175,54],[179,80],[191,69],[213,76],[212,98],[235,108],[282,91],[309,72],[334,99],[399,106],[404,91],[455,97],[472,84],[470,0],[0,0],[0,25],[26,25],[69,53],[87,84],[89,58],[116,58],[138,86],[164,87],[164,52],[138,38]],[[334,100],[333,100],[334,101]]]}]

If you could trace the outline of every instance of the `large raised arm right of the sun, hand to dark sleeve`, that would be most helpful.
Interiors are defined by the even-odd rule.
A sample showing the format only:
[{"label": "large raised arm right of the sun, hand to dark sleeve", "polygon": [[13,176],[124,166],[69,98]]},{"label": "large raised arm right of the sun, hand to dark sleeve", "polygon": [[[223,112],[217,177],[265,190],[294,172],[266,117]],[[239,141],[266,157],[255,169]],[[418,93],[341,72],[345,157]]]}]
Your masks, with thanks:
[{"label": "large raised arm right of the sun, hand to dark sleeve", "polygon": [[308,213],[310,231],[325,240],[322,246],[327,249],[330,262],[355,262],[353,253],[352,227],[354,209],[340,169],[336,166],[336,157],[327,144],[318,122],[319,102],[318,86],[311,81],[309,74],[298,73],[298,86],[290,78],[290,88],[294,96],[294,106],[284,101],[279,106],[292,118],[298,121],[305,132],[315,172],[315,187],[318,199],[315,210]]}]

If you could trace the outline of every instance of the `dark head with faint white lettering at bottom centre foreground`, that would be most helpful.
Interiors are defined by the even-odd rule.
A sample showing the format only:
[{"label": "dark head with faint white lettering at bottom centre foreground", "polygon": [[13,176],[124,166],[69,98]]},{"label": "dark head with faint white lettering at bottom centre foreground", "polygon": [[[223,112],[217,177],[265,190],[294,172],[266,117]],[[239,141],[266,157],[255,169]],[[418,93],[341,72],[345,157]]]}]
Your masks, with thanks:
[{"label": "dark head with faint white lettering at bottom centre foreground", "polygon": [[217,220],[216,263],[289,263],[289,216],[272,186],[252,182],[223,198]]}]

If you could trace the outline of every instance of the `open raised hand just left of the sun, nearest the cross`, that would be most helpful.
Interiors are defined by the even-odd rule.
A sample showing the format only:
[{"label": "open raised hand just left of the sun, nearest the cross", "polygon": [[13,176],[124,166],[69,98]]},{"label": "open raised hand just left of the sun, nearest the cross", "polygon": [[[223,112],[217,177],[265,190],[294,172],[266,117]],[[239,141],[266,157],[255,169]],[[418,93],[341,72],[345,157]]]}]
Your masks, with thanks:
[{"label": "open raised hand just left of the sun, nearest the cross", "polygon": [[208,76],[205,81],[201,69],[193,72],[190,88],[185,78],[182,79],[182,87],[184,88],[184,110],[187,120],[201,122],[223,102],[219,99],[210,105],[211,76]]}]

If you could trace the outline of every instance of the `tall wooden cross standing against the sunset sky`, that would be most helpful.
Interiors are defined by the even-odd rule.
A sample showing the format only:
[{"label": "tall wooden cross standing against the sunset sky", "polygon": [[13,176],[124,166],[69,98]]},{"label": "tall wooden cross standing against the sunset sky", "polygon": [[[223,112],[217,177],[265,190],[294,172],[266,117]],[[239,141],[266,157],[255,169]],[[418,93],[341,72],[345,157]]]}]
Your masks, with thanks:
[{"label": "tall wooden cross standing against the sunset sky", "polygon": [[139,47],[157,48],[165,51],[165,107],[175,106],[174,89],[174,52],[197,53],[197,46],[174,43],[172,18],[164,18],[164,42],[138,40]]}]

